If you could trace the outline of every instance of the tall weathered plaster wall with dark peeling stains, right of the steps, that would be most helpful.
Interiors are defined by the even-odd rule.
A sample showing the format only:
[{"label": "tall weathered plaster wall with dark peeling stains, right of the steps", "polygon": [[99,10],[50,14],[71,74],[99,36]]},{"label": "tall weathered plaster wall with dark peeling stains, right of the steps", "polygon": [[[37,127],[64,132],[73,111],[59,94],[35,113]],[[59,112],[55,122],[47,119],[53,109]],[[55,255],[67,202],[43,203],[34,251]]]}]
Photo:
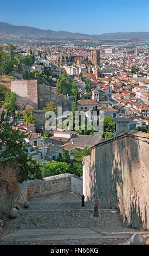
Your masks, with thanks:
[{"label": "tall weathered plaster wall with dark peeling stains, right of the steps", "polygon": [[85,162],[85,200],[118,208],[125,223],[149,229],[149,135],[129,132],[101,142]]}]

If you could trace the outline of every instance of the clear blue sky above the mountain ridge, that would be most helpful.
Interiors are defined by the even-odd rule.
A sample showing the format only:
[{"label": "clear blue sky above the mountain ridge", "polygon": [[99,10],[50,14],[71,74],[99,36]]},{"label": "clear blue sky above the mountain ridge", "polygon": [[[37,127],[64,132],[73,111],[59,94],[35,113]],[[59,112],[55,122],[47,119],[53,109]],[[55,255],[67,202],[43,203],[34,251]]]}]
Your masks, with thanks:
[{"label": "clear blue sky above the mountain ridge", "polygon": [[149,0],[0,0],[0,21],[85,34],[149,32]]}]

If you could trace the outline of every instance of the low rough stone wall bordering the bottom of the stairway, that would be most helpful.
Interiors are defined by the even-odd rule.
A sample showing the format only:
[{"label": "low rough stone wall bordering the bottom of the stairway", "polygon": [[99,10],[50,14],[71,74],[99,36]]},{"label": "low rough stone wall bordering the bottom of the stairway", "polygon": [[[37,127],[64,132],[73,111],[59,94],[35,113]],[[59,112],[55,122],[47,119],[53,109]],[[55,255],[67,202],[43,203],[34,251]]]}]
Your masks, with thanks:
[{"label": "low rough stone wall bordering the bottom of the stairway", "polygon": [[0,184],[0,214],[33,197],[64,191],[80,192],[78,184],[74,187],[76,180],[78,179],[73,174],[60,174],[43,178],[43,180],[24,181],[20,184],[20,192],[16,196],[8,192],[7,186]]}]

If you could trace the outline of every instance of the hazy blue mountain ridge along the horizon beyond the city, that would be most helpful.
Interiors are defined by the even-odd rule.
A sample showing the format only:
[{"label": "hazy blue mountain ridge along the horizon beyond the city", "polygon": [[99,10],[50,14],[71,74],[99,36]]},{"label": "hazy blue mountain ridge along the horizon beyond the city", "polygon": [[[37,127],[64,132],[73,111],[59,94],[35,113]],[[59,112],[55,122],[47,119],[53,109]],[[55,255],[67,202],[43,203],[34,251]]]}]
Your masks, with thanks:
[{"label": "hazy blue mountain ridge along the horizon beyond the city", "polygon": [[26,26],[14,26],[9,23],[0,22],[0,34],[3,35],[21,35],[21,36],[33,36],[47,37],[47,38],[74,38],[74,39],[149,39],[149,32],[118,32],[118,33],[107,33],[100,35],[88,35],[81,33],[71,33],[66,31],[52,31],[50,29],[38,29]]}]

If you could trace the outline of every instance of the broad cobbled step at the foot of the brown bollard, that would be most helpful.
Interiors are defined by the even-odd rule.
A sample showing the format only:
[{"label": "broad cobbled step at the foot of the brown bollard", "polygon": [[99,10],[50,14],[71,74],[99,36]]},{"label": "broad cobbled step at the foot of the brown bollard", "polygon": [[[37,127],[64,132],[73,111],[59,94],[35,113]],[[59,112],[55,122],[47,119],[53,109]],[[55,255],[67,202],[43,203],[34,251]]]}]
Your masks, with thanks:
[{"label": "broad cobbled step at the foot of the brown bollard", "polygon": [[7,228],[93,228],[113,231],[116,225],[124,228],[124,223],[117,210],[99,210],[99,218],[93,217],[93,210],[18,210],[17,218],[10,219],[9,211],[5,212],[8,218]]}]

